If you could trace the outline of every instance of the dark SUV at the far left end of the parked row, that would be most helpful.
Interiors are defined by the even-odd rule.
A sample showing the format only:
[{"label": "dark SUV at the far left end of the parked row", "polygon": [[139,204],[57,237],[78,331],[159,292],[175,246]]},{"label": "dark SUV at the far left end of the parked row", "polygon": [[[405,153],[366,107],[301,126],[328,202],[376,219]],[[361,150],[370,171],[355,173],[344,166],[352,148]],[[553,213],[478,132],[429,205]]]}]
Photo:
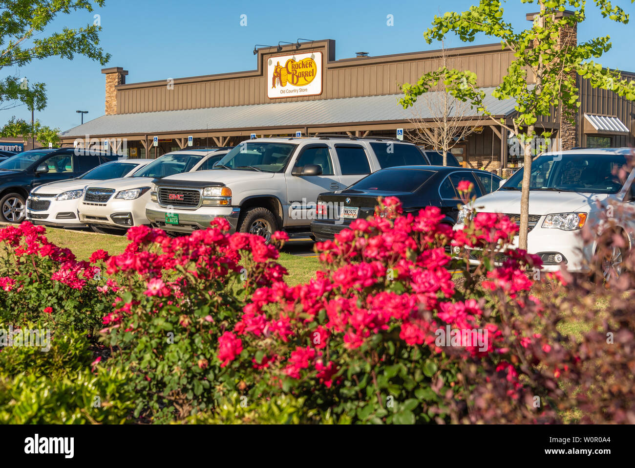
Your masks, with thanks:
[{"label": "dark SUV at the far left end of the parked row", "polygon": [[0,161],[0,221],[22,223],[25,200],[41,184],[81,176],[116,155],[74,148],[41,148],[24,151]]}]

